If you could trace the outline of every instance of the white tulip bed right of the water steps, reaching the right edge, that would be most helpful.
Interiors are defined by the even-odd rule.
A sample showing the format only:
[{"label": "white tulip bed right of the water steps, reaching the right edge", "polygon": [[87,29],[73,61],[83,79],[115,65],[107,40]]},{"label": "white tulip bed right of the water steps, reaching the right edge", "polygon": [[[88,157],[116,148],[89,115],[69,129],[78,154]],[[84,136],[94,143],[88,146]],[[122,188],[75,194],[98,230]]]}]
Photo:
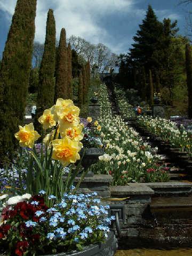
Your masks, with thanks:
[{"label": "white tulip bed right of the water steps, reaching the right edge", "polygon": [[171,143],[173,147],[180,148],[192,155],[192,134],[181,125],[180,129],[174,122],[164,118],[152,118],[150,116],[138,118],[138,123],[146,127],[148,131]]}]

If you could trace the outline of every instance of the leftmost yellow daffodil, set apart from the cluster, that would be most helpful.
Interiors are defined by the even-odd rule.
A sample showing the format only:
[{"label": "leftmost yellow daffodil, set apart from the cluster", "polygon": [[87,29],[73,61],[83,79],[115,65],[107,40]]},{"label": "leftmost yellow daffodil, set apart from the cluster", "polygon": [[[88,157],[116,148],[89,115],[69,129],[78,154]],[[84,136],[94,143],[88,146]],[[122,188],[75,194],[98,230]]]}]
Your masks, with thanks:
[{"label": "leftmost yellow daffodil, set apart from the cluster", "polygon": [[15,138],[19,140],[21,147],[33,148],[34,142],[38,140],[41,135],[34,131],[33,123],[26,124],[25,126],[19,125],[19,132],[15,133]]}]

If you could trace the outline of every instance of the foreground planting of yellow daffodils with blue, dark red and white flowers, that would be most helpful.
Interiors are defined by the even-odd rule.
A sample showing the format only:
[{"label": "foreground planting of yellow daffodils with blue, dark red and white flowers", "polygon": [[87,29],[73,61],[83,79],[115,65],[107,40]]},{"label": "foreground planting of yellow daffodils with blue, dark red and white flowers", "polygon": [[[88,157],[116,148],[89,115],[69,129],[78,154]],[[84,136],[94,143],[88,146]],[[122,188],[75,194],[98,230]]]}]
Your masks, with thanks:
[{"label": "foreground planting of yellow daffodils with blue, dark red and white flowers", "polygon": [[[1,169],[0,253],[11,256],[82,250],[105,241],[109,232],[109,206],[93,198],[97,193],[76,194],[87,172],[81,166],[82,141],[84,147],[102,147],[98,134],[84,128],[71,100],[58,99],[38,121],[42,135],[33,123],[19,126],[18,157]],[[91,122],[84,120],[86,126]],[[78,173],[81,179],[73,187]]]}]

